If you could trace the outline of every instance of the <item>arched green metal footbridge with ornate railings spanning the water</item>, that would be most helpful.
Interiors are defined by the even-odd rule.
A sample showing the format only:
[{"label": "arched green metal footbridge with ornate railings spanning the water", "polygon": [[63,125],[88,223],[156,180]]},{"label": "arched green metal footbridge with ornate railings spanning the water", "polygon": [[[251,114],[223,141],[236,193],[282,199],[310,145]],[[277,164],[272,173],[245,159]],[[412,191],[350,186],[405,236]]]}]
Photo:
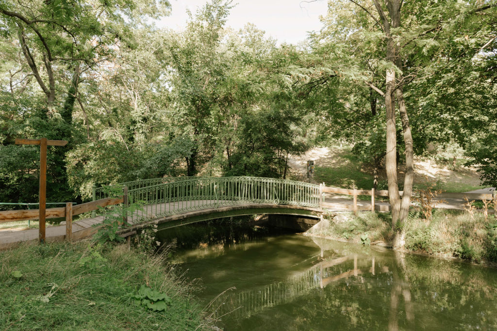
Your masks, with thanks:
[{"label": "arched green metal footbridge with ornate railings spanning the water", "polygon": [[[124,195],[141,207],[130,224],[155,221],[166,227],[248,214],[291,214],[319,218],[322,186],[260,177],[172,177],[93,189],[93,200]],[[164,227],[163,226],[163,227]]]}]

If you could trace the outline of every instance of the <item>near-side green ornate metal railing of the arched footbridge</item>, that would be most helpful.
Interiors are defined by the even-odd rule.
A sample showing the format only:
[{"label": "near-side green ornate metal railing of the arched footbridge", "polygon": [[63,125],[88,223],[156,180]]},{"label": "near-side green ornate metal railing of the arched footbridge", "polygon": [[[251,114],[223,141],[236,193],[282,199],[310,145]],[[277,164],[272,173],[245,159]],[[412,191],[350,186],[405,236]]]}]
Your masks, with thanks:
[{"label": "near-side green ornate metal railing of the arched footbridge", "polygon": [[[188,178],[188,177],[185,177]],[[320,186],[259,177],[189,177],[128,190],[129,202],[143,205],[132,222],[238,203],[320,206]]]}]

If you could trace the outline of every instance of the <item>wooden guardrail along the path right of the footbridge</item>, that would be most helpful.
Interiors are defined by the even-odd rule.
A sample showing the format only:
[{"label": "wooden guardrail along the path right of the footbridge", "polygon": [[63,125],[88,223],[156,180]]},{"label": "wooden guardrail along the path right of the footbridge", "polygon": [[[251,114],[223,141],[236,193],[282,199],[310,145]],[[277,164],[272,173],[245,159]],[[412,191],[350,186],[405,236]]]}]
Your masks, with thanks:
[{"label": "wooden guardrail along the path right of the footbridge", "polygon": [[[342,189],[342,188],[335,188],[335,187],[328,187],[325,185],[321,186],[321,190],[323,193],[331,193],[331,194],[342,194],[342,195],[349,195],[353,196],[353,211],[354,214],[357,214],[357,196],[371,196],[371,208],[368,208],[367,210],[371,209],[371,211],[374,211],[375,208],[375,197],[380,196],[380,197],[388,197],[388,190],[376,190],[371,189],[371,190],[358,190],[358,189]],[[400,195],[404,193],[403,191],[399,192]],[[493,200],[495,197],[496,192],[494,194],[480,194],[480,193],[442,193],[436,196],[436,199],[456,199],[456,200],[464,200],[467,198],[468,200]]]}]

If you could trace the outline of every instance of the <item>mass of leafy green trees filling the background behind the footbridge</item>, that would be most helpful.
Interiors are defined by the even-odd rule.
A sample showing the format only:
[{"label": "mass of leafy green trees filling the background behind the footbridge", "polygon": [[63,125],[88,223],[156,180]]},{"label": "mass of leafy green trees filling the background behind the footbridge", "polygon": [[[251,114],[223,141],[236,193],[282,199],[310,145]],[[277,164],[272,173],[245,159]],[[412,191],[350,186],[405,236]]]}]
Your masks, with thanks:
[{"label": "mass of leafy green trees filling the background behind the footbridge", "polygon": [[0,0],[0,201],[36,198],[37,148],[12,144],[41,136],[69,140],[49,152],[50,201],[163,176],[286,178],[290,155],[335,139],[386,167],[401,223],[429,145],[497,185],[496,1],[332,0],[299,45],[227,27],[234,5],[174,31],[154,23],[166,0]]}]

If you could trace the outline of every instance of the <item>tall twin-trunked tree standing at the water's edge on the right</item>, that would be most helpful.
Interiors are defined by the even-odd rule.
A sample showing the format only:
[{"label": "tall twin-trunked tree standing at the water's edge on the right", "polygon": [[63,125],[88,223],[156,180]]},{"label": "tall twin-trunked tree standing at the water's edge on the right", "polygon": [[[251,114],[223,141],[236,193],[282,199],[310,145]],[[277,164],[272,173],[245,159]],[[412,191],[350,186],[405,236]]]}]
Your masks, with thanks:
[{"label": "tall twin-trunked tree standing at the water's edge on the right", "polygon": [[[322,37],[325,40],[329,38],[328,42],[338,43],[336,49],[345,50],[348,57],[356,60],[352,69],[343,72],[344,75],[350,77],[350,81],[374,90],[384,101],[385,166],[393,229],[397,228],[398,222],[402,227],[409,212],[414,175],[414,138],[418,140],[419,149],[423,149],[419,144],[426,141],[426,137],[423,138],[419,132],[432,127],[430,122],[437,122],[434,118],[436,115],[427,117],[426,113],[423,114],[418,100],[413,98],[418,91],[410,86],[437,72],[439,68],[434,58],[457,57],[455,47],[452,48],[454,53],[447,54],[448,45],[458,42],[453,34],[455,25],[467,25],[468,21],[477,19],[475,16],[478,13],[493,7],[493,4],[463,4],[455,1],[404,3],[401,0],[386,0],[382,4],[377,0],[343,0],[333,2],[330,8],[328,19],[331,24],[338,23],[338,27],[331,29],[331,32],[325,30]],[[357,72],[362,73],[358,75]],[[378,85],[377,75],[380,72],[383,72],[384,88]],[[411,99],[406,100],[405,91]],[[410,114],[408,107],[411,109]],[[406,163],[402,200],[397,177],[399,139],[396,110],[399,111]],[[410,119],[413,116],[414,133]],[[396,245],[401,244],[401,238],[397,236]]]}]

